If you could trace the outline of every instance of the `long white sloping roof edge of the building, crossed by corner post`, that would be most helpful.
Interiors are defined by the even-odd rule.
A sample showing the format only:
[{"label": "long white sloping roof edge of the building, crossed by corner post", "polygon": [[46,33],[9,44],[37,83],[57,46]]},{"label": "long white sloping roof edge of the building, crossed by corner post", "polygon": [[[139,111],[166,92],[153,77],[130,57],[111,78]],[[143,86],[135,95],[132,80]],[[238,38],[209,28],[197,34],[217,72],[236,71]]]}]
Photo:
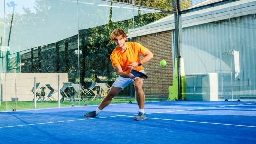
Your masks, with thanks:
[{"label": "long white sloping roof edge of the building, crossed by corner post", "polygon": [[[256,0],[240,0],[195,12],[182,14],[182,28],[256,14]],[[174,30],[174,15],[166,16],[143,27],[129,29],[128,37],[138,37]]]}]

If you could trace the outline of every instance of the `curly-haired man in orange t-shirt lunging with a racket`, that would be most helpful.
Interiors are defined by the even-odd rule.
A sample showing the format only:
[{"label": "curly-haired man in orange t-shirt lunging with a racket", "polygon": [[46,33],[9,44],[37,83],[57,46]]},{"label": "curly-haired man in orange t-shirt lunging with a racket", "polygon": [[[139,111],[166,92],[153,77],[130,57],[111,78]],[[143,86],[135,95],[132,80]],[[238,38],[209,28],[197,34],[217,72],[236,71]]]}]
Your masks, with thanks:
[{"label": "curly-haired man in orange t-shirt lunging with a racket", "polygon": [[[129,83],[133,82],[136,91],[136,100],[139,106],[139,114],[134,117],[135,120],[145,120],[146,115],[144,112],[145,94],[142,89],[144,80],[135,77],[130,73],[131,69],[144,72],[142,64],[153,58],[153,54],[144,46],[136,42],[125,42],[127,40],[127,33],[122,29],[115,29],[110,35],[112,41],[115,42],[116,48],[113,50],[110,59],[112,66],[118,73],[118,78],[111,86],[107,96],[100,103],[95,111],[85,113],[86,118],[96,117],[98,113],[104,109],[112,99],[121,92]],[[145,57],[140,60],[140,55]],[[145,72],[144,72],[145,73]]]}]

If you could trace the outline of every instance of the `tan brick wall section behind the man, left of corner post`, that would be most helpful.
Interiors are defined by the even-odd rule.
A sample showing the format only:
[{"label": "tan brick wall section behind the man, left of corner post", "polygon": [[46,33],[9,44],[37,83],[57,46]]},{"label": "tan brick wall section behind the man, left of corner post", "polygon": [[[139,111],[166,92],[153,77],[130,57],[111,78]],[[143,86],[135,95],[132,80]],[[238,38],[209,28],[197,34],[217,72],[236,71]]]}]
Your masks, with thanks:
[{"label": "tan brick wall section behind the man, left of corner post", "polygon": [[[148,75],[143,85],[146,98],[168,98],[168,88],[173,84],[172,33],[136,37],[135,41],[148,48],[154,55],[154,58],[143,65]],[[143,58],[144,56],[141,56],[141,59]],[[165,67],[160,66],[161,60],[166,60]]]}]

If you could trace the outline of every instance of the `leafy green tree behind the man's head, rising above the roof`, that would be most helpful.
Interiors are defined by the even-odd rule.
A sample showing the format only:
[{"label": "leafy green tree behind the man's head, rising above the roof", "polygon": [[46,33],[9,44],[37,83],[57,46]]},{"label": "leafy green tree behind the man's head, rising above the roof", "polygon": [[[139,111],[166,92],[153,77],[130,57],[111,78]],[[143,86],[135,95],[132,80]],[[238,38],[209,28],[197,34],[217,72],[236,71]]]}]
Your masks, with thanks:
[{"label": "leafy green tree behind the man's head, rising above the roof", "polygon": [[[115,78],[111,76],[117,76],[113,75],[112,72],[114,72],[111,61],[109,59],[113,49],[115,48],[115,44],[110,39],[111,32],[116,29],[124,29],[128,32],[128,29],[138,28],[141,26],[144,26],[146,24],[149,24],[153,21],[156,21],[160,18],[163,18],[170,14],[165,13],[153,13],[153,12],[145,12],[145,14],[141,14],[141,10],[138,11],[138,15],[134,18],[122,20],[122,21],[112,21],[112,15],[119,15],[120,19],[122,19],[123,15],[128,13],[127,11],[123,9],[117,9],[113,10],[113,3],[106,3],[106,5],[109,4],[111,7],[109,9],[109,20],[108,24],[93,27],[91,35],[87,35],[89,44],[87,45],[87,49],[89,51],[89,54],[87,58],[92,59],[93,65],[96,67],[88,67],[87,71],[93,72],[97,75],[102,75],[103,73],[107,73],[107,76],[109,79]],[[123,11],[122,11],[123,10]],[[96,12],[101,13],[107,13],[108,10],[97,9]],[[118,19],[118,18],[115,18]],[[90,55],[90,56],[89,56]],[[95,57],[96,56],[96,57]],[[91,70],[90,70],[91,69]]]}]

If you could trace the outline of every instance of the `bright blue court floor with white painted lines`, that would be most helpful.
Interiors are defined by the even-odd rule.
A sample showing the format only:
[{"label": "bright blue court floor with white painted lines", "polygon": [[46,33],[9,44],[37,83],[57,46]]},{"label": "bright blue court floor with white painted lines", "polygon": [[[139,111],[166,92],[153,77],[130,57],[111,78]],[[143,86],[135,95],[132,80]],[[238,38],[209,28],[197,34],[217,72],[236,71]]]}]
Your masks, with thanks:
[{"label": "bright blue court floor with white painted lines", "polygon": [[256,102],[157,101],[0,112],[0,144],[256,144]]}]

